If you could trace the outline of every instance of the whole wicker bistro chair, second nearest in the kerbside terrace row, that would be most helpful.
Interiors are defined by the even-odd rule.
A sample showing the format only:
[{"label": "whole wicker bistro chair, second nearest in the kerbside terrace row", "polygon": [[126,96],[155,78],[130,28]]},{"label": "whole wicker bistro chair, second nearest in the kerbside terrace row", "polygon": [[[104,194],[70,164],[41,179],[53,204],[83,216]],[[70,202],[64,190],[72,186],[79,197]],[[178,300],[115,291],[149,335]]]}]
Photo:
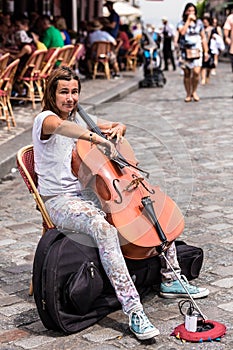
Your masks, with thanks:
[{"label": "whole wicker bistro chair, second nearest in the kerbside terrace row", "polygon": [[32,108],[36,108],[36,101],[42,101],[41,69],[47,50],[36,50],[29,57],[25,67],[17,78],[17,83],[26,88],[25,96],[12,96],[12,100],[31,101]]}]

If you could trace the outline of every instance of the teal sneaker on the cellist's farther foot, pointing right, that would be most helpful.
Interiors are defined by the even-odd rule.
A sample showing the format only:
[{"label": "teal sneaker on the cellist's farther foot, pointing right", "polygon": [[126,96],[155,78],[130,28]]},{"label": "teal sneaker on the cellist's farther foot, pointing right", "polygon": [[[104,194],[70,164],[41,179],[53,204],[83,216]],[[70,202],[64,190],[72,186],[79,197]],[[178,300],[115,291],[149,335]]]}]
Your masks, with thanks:
[{"label": "teal sneaker on the cellist's farther foot, pointing right", "polygon": [[[187,288],[188,292],[192,296],[193,299],[204,298],[209,295],[209,289],[207,288],[199,288],[189,284],[187,278],[185,276],[181,276],[182,283],[185,288]],[[161,283],[160,285],[160,296],[163,298],[188,298],[189,295],[181,285],[179,280],[171,281],[167,283]]]}]

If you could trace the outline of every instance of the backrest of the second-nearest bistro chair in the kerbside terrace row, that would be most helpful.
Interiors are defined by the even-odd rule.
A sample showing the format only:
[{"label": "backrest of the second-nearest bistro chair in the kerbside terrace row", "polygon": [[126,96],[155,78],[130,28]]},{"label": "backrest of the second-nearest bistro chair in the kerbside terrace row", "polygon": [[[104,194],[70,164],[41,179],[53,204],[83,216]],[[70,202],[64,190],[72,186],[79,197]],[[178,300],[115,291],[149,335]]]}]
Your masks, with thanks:
[{"label": "backrest of the second-nearest bistro chair in the kerbside terrace row", "polygon": [[22,69],[19,79],[35,79],[36,77],[39,78],[46,53],[47,50],[34,51],[27,60],[25,67]]}]

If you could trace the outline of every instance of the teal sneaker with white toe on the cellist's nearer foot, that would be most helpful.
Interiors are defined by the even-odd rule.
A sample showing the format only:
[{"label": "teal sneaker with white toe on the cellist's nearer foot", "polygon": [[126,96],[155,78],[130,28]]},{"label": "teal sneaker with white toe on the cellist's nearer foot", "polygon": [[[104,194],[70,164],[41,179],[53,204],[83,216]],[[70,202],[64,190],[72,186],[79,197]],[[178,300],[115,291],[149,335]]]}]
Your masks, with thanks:
[{"label": "teal sneaker with white toe on the cellist's nearer foot", "polygon": [[159,330],[147,318],[143,310],[133,310],[129,315],[131,332],[139,339],[146,340],[159,335]]}]

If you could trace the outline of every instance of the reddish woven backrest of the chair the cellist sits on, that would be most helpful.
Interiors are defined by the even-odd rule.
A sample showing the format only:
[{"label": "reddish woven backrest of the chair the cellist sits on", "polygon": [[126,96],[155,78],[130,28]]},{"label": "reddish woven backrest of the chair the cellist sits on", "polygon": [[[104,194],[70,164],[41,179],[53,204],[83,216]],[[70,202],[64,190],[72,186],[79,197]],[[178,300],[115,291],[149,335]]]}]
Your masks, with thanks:
[{"label": "reddish woven backrest of the chair the cellist sits on", "polygon": [[37,190],[37,175],[34,170],[34,152],[33,146],[28,145],[22,147],[16,155],[17,166],[19,172],[29,190],[33,194],[34,200],[36,201],[37,207],[41,212],[43,218],[43,226],[45,229],[54,228],[49,214],[45,208],[44,202]]}]

